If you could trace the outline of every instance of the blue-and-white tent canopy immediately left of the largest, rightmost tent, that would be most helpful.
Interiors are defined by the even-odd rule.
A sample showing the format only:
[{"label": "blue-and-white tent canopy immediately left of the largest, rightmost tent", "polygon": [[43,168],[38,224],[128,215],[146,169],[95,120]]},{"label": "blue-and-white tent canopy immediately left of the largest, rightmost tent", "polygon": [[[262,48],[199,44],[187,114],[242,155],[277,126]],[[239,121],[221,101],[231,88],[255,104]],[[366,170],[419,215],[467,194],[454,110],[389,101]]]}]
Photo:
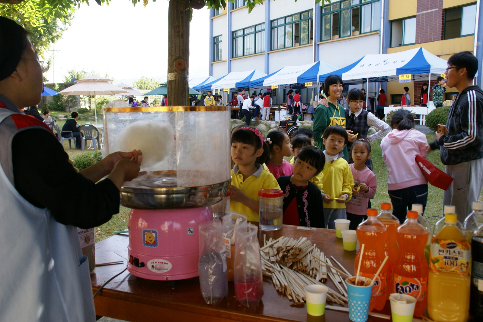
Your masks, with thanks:
[{"label": "blue-and-white tent canopy immediately left of the largest, rightmost tent", "polygon": [[336,70],[329,64],[317,61],[302,66],[286,66],[263,81],[264,86],[317,82],[318,75]]}]

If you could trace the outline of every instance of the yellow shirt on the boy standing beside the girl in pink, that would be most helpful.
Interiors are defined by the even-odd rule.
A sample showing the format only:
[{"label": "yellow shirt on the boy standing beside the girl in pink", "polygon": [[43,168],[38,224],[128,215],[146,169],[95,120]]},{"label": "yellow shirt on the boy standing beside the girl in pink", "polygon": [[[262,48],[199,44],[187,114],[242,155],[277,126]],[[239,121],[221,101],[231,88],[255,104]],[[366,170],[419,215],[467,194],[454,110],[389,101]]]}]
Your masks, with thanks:
[{"label": "yellow shirt on the boy standing beside the girl in pink", "polygon": [[[326,162],[324,165],[324,193],[332,198],[339,198],[346,193],[349,198],[345,202],[351,200],[352,188],[354,188],[354,177],[352,176],[349,163],[344,160],[343,152],[339,153],[339,159],[334,162]],[[340,209],[345,208],[345,202],[331,201],[329,204],[324,203],[324,208]]]}]

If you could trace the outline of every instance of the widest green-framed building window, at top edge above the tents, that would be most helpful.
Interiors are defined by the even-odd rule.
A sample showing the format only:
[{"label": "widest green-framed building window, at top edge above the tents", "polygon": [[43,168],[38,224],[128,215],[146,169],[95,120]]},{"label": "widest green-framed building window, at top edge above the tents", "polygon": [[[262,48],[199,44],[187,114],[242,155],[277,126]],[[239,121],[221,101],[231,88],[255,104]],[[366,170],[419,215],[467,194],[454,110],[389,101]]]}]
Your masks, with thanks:
[{"label": "widest green-framed building window, at top edge above the tents", "polygon": [[381,27],[381,1],[344,0],[322,9],[321,40],[377,31]]}]

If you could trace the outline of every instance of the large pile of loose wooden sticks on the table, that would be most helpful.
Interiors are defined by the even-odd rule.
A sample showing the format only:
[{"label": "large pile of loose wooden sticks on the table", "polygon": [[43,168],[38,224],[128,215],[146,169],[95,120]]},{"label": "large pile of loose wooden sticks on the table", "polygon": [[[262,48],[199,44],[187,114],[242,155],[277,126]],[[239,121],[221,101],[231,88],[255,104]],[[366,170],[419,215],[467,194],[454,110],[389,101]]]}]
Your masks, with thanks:
[{"label": "large pile of loose wooden sticks on the table", "polygon": [[270,276],[275,289],[284,293],[289,300],[294,303],[304,302],[304,287],[324,285],[328,277],[339,292],[328,288],[327,300],[341,305],[348,302],[347,286],[341,274],[347,277],[352,275],[331,256],[342,270],[333,267],[324,253],[306,237],[295,240],[282,236],[267,241],[264,235],[263,242],[264,246],[260,248],[262,273]]}]

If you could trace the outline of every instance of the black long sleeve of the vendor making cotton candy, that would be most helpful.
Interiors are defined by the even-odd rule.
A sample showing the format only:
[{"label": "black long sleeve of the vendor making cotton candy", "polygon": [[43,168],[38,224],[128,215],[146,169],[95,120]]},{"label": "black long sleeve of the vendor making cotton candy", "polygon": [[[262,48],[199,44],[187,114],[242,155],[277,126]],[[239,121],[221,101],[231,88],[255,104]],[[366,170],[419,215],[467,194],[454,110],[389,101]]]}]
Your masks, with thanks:
[{"label": "black long sleeve of the vendor making cotton candy", "polygon": [[76,173],[54,135],[27,129],[12,141],[14,185],[28,202],[48,208],[57,222],[92,228],[119,213],[119,190],[109,179],[95,184]]}]

